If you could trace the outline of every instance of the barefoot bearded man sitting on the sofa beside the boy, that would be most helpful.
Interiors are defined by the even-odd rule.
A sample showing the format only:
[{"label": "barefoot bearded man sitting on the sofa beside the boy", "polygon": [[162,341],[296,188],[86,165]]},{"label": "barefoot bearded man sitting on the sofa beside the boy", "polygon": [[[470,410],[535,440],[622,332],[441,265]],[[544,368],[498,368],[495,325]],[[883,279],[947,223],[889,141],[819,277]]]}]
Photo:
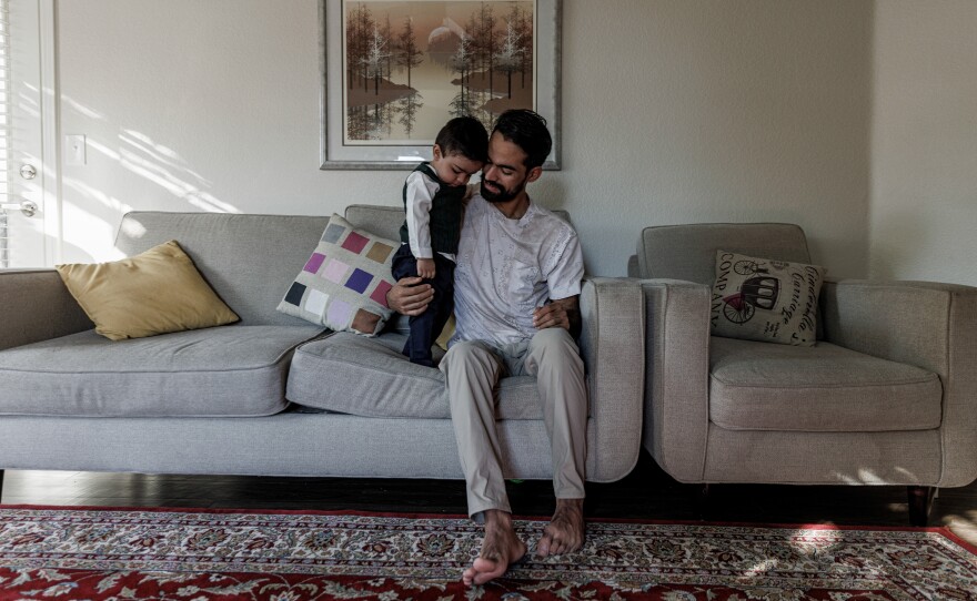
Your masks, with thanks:
[{"label": "barefoot bearded man sitting on the sofa beside the boy", "polygon": [[[552,139],[526,110],[500,115],[488,141],[481,192],[467,204],[455,271],[456,332],[441,360],[469,515],[484,523],[479,559],[462,577],[482,584],[526,552],[512,524],[495,431],[493,388],[503,373],[535,376],[553,459],[556,510],[536,543],[547,557],[584,539],[587,397],[580,333],[583,256],[576,233],[533,204],[526,184],[542,175]],[[433,291],[401,279],[387,294],[405,315],[423,313]]]}]

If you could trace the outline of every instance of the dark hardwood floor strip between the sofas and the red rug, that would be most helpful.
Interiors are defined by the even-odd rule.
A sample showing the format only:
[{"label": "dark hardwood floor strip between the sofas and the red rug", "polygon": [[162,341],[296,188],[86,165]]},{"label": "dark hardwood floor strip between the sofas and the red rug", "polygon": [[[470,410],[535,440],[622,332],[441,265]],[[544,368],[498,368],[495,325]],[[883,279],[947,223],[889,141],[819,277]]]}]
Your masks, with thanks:
[{"label": "dark hardwood floor strip between the sofas and the red rug", "polygon": [[[553,510],[548,481],[510,482],[520,516]],[[697,520],[702,487],[682,485],[647,456],[624,479],[587,483],[591,518]],[[419,513],[465,512],[461,480],[149,476],[8,470],[4,505],[319,509]],[[705,517],[753,523],[907,526],[905,487],[723,485],[711,487]],[[931,526],[948,526],[977,544],[977,483],[939,491]]]}]

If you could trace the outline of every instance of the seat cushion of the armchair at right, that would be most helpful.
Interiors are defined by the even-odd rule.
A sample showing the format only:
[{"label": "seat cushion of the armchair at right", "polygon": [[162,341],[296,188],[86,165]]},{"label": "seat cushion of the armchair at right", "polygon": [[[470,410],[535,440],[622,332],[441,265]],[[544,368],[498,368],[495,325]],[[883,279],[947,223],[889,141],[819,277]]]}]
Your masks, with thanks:
[{"label": "seat cushion of the armchair at right", "polygon": [[734,430],[938,428],[943,386],[925,369],[820,342],[711,338],[709,419]]}]

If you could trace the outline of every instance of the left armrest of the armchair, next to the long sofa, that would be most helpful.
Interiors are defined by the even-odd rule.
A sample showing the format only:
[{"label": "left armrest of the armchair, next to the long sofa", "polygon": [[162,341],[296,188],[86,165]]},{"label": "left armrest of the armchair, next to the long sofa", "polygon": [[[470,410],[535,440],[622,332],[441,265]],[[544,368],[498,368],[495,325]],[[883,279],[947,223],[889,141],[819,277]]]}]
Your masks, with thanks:
[{"label": "left armrest of the armchair, next to the long sofa", "polygon": [[703,479],[709,429],[709,287],[641,281],[645,304],[644,447],[669,476]]}]

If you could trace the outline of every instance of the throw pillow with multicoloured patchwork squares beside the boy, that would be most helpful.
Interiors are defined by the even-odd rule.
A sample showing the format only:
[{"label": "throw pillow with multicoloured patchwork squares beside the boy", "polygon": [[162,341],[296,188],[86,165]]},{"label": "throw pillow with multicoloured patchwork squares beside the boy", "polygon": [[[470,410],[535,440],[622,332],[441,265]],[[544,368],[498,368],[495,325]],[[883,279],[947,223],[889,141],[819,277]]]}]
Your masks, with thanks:
[{"label": "throw pillow with multicoloured patchwork squares beside the boy", "polygon": [[375,336],[393,314],[386,293],[394,285],[390,268],[400,244],[334,214],[278,310],[330,329]]}]

